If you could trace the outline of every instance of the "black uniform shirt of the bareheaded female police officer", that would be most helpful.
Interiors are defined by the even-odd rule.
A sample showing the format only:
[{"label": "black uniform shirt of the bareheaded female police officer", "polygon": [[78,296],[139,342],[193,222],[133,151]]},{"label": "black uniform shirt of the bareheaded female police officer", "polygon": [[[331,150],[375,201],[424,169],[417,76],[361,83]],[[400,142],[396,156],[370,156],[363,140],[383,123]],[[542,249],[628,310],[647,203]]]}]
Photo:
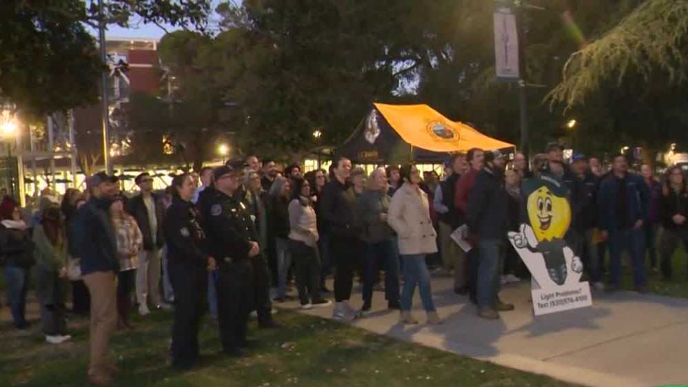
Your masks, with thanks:
[{"label": "black uniform shirt of the bareheaded female police officer", "polygon": [[208,265],[207,240],[201,227],[200,213],[192,202],[172,199],[165,211],[163,232],[168,243],[168,260],[172,264]]}]

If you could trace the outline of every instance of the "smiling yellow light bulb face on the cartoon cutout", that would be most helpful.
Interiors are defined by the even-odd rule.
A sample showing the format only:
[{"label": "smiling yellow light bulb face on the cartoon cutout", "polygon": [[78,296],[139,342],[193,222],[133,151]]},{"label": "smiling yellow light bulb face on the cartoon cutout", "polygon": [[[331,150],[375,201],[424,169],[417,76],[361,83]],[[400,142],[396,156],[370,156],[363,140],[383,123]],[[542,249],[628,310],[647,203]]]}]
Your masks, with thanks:
[{"label": "smiling yellow light bulb face on the cartoon cutout", "polygon": [[538,242],[563,238],[571,222],[571,207],[566,198],[540,187],[528,196],[528,218]]}]

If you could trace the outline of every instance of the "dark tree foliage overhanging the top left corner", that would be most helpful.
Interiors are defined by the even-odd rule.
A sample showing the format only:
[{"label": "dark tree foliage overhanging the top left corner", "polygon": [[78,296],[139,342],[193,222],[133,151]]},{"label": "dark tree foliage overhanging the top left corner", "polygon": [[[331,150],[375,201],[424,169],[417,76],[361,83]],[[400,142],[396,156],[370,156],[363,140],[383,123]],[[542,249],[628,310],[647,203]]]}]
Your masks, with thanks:
[{"label": "dark tree foliage overhanging the top left corner", "polygon": [[[204,30],[210,1],[104,0],[104,21],[169,23]],[[24,114],[95,103],[103,63],[86,25],[97,27],[97,1],[3,1],[0,96]]]}]

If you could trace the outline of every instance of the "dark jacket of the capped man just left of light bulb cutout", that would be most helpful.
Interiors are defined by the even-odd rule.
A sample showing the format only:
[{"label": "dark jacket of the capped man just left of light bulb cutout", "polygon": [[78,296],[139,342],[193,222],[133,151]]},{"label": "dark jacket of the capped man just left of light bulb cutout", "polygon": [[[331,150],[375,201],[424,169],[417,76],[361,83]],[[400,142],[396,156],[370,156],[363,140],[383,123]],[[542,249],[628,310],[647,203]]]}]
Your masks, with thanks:
[{"label": "dark jacket of the capped man just left of light bulb cutout", "polygon": [[485,167],[468,196],[468,229],[480,240],[505,240],[509,230],[509,193],[504,179]]}]

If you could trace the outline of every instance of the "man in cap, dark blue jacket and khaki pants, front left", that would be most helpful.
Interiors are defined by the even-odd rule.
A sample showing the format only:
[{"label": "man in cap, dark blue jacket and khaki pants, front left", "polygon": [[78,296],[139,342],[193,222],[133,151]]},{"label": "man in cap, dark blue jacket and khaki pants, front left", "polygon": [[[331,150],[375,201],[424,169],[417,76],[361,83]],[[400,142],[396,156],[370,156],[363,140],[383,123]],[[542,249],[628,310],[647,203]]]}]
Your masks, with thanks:
[{"label": "man in cap, dark blue jacket and khaki pants, front left", "polygon": [[90,364],[88,381],[112,385],[117,371],[108,360],[110,335],[117,328],[117,240],[109,210],[118,191],[117,178],[100,172],[86,180],[91,198],[77,213],[76,249],[81,276],[91,295]]}]

